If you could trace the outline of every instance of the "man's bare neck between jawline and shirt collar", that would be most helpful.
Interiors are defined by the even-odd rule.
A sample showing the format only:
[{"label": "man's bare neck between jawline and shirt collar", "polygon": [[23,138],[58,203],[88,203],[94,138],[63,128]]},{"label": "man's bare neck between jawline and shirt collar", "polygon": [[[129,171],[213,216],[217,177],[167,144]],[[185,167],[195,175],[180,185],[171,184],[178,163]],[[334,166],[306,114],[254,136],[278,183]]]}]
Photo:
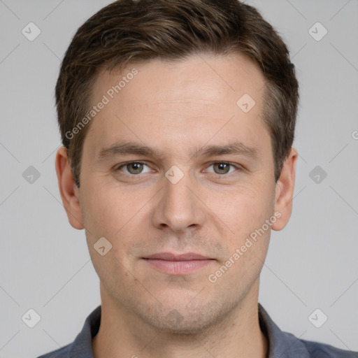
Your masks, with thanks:
[{"label": "man's bare neck between jawline and shirt collar", "polygon": [[101,325],[92,339],[95,358],[266,358],[268,342],[259,327],[258,286],[220,322],[198,334],[171,334],[150,326],[115,303],[101,285]]}]

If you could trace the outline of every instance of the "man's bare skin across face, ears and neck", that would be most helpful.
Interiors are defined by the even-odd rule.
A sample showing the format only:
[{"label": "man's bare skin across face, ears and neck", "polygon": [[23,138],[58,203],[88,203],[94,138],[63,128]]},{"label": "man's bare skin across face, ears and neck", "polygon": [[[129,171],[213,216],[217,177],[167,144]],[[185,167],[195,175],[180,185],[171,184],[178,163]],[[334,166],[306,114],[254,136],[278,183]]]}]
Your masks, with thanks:
[{"label": "man's bare skin across face, ears and neck", "polygon": [[[134,67],[138,74],[90,124],[80,189],[65,148],[56,157],[69,222],[85,228],[101,282],[94,357],[266,357],[257,302],[271,230],[216,282],[208,280],[275,211],[280,218],[273,230],[283,229],[292,212],[297,152],[291,149],[276,184],[271,138],[260,117],[264,76],[243,55],[192,55],[172,64],[152,59],[123,73],[102,69],[93,103]],[[256,102],[248,113],[236,105],[245,93]],[[97,160],[101,149],[120,140],[164,155]],[[257,158],[189,155],[193,147],[231,141],[255,148]],[[135,167],[118,169],[136,161],[145,164],[139,177]],[[226,173],[213,162],[237,168]],[[176,184],[165,176],[173,165],[184,175]],[[101,256],[94,243],[103,236],[113,247]],[[173,275],[143,259],[157,252],[196,252],[213,260]]]}]

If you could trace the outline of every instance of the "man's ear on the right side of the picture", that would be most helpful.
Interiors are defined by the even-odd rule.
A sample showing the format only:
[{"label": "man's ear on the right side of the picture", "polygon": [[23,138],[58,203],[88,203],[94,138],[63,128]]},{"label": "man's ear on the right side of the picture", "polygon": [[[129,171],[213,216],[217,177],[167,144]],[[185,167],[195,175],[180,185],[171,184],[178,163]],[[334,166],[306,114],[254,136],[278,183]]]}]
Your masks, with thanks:
[{"label": "man's ear on the right side of the picture", "polygon": [[292,147],[282,166],[280,179],[276,183],[275,211],[281,213],[280,218],[271,226],[271,229],[276,231],[282,230],[286,226],[292,213],[297,157],[297,150]]}]

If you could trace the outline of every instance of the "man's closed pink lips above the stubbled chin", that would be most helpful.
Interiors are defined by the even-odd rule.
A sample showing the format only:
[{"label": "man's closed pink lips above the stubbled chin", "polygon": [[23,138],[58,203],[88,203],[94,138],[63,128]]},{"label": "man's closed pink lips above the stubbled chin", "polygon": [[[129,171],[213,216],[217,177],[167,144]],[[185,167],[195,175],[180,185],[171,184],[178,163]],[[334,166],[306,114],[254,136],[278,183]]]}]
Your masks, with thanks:
[{"label": "man's closed pink lips above the stubbled chin", "polygon": [[194,252],[180,255],[171,252],[159,252],[148,257],[143,257],[143,260],[151,267],[171,275],[189,274],[215,261],[215,259],[210,259],[210,257]]}]

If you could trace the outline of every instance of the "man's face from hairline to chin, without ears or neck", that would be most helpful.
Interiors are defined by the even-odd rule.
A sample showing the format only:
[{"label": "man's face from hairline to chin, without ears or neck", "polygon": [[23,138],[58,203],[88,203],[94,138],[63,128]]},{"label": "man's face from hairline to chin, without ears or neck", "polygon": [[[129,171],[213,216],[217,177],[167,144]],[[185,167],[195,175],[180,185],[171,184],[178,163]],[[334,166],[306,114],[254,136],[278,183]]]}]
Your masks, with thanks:
[{"label": "man's face from hairline to chin, without ears or neck", "polygon": [[[108,90],[133,68],[138,73],[111,99]],[[93,103],[103,95],[110,101],[85,138],[79,199],[92,262],[112,306],[160,329],[193,333],[245,300],[257,302],[270,230],[257,241],[250,234],[275,212],[263,92],[264,76],[241,55],[156,59],[99,73]],[[255,100],[251,109],[248,96],[237,104],[244,94]],[[154,153],[103,151],[124,142]],[[256,155],[205,153],[236,142]],[[112,245],[103,256],[94,250],[101,237]],[[243,252],[247,238],[252,245]],[[161,253],[208,259],[173,263]]]}]

